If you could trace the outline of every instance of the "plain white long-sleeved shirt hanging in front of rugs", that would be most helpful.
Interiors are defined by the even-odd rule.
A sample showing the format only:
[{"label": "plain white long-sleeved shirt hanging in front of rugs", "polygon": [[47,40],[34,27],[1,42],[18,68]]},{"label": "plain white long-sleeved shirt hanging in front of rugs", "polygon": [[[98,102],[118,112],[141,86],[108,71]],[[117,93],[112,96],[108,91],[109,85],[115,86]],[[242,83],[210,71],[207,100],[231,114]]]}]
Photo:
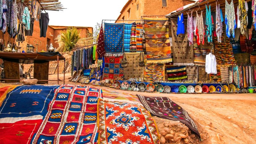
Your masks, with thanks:
[{"label": "plain white long-sleeved shirt hanging in front of rugs", "polygon": [[215,55],[212,55],[212,53],[207,54],[205,59],[205,72],[207,72],[207,74],[217,74],[216,65]]}]

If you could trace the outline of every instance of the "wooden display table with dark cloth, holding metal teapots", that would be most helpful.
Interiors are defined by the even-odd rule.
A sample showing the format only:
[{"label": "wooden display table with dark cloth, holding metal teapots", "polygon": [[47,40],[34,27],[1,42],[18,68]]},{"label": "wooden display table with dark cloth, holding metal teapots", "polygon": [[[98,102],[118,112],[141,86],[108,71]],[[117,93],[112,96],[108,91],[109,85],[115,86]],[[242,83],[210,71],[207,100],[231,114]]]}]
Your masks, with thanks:
[{"label": "wooden display table with dark cloth, holding metal teapots", "polygon": [[[37,83],[46,83],[48,81],[58,81],[59,84],[59,60],[64,60],[59,52],[38,52],[38,53],[12,53],[0,52],[0,58],[4,60],[4,76],[5,83],[20,82],[19,63],[31,64],[34,63],[34,78],[38,79]],[[49,61],[57,60],[58,76],[57,80],[48,80],[49,76]],[[65,71],[64,71],[65,84]]]}]

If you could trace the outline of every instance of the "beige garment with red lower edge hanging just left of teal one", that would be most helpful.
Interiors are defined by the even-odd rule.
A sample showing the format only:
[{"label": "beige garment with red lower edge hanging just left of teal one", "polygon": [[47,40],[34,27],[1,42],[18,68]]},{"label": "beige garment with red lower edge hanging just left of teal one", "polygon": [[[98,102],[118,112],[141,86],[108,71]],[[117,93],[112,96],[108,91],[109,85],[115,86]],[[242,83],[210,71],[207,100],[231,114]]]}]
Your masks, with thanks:
[{"label": "beige garment with red lower edge hanging just left of teal one", "polygon": [[201,11],[201,15],[199,16],[196,11],[196,36],[197,36],[197,44],[200,45],[204,44],[204,19],[203,19],[203,12]]}]

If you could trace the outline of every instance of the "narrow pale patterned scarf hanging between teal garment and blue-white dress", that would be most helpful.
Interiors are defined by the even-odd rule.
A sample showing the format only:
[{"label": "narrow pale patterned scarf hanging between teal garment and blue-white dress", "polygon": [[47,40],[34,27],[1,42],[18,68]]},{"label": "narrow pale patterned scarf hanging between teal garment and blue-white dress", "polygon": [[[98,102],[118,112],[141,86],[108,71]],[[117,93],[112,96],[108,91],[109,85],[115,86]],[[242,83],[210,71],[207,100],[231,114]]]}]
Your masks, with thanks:
[{"label": "narrow pale patterned scarf hanging between teal garment and blue-white dress", "polygon": [[218,43],[221,42],[221,34],[222,34],[221,15],[222,13],[220,13],[220,4],[217,5],[217,2],[216,2],[216,35],[218,37]]}]

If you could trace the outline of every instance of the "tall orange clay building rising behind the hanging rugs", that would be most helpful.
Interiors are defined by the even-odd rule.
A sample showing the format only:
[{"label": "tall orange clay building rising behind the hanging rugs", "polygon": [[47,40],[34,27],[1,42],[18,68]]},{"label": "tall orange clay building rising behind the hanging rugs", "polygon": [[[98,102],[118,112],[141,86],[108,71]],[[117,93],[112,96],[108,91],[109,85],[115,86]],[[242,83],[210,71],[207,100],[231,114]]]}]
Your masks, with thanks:
[{"label": "tall orange clay building rising behind the hanging rugs", "polygon": [[125,20],[140,20],[141,16],[166,15],[194,2],[194,0],[128,0],[121,10],[116,23],[132,23],[134,21]]}]

